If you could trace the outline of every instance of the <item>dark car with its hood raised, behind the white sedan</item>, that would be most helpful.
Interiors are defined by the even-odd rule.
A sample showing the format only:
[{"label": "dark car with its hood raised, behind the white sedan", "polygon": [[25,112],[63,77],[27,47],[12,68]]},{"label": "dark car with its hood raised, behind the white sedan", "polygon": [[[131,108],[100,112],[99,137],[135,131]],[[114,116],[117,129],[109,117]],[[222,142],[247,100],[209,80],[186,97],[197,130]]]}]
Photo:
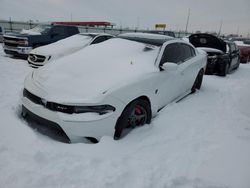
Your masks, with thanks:
[{"label": "dark car with its hood raised, behind the white sedan", "polygon": [[239,67],[239,49],[234,42],[206,33],[190,35],[189,42],[207,52],[206,74],[226,76]]}]

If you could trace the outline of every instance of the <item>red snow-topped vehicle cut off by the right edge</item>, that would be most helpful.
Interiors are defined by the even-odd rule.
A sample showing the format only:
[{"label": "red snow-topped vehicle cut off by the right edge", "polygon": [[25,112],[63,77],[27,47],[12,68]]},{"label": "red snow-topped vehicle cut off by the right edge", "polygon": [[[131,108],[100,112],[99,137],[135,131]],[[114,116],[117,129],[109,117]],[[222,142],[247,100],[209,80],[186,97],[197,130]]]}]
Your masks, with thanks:
[{"label": "red snow-topped vehicle cut off by the right edge", "polygon": [[240,49],[240,62],[241,63],[250,62],[250,39],[241,41],[235,40],[234,42]]}]

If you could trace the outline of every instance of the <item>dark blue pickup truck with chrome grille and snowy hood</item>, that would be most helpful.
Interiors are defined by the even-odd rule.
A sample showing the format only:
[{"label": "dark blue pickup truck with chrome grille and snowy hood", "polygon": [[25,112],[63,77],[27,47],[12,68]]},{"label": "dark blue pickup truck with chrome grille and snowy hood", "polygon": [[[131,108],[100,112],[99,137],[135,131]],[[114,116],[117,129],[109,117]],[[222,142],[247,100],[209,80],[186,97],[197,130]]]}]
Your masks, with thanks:
[{"label": "dark blue pickup truck with chrome grille and snowy hood", "polygon": [[29,52],[39,46],[47,45],[79,33],[76,26],[38,25],[20,33],[8,33],[3,36],[3,48],[6,54],[28,57]]}]

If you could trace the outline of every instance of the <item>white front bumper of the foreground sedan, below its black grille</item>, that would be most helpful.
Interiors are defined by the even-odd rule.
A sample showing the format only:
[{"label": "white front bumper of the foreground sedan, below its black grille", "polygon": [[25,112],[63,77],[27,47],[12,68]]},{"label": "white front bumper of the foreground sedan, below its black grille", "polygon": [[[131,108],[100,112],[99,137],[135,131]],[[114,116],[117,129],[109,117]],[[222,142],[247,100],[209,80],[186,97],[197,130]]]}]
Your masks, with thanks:
[{"label": "white front bumper of the foreground sedan, below its black grille", "polygon": [[23,116],[32,112],[39,119],[46,120],[49,127],[59,127],[69,138],[70,142],[81,142],[85,137],[100,139],[103,135],[113,136],[114,127],[119,117],[119,112],[115,111],[105,115],[91,117],[88,113],[65,114],[51,111],[42,105],[35,104],[28,98],[22,98]]}]

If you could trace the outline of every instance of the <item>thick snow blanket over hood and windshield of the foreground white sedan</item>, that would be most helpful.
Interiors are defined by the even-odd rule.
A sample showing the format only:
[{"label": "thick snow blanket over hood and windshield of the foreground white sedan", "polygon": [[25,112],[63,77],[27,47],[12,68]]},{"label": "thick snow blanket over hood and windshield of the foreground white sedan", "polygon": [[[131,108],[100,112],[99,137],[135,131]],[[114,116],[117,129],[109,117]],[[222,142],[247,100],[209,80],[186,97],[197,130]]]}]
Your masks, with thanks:
[{"label": "thick snow blanket over hood and windshield of the foreground white sedan", "polygon": [[159,71],[154,65],[159,47],[145,50],[145,44],[110,39],[39,68],[33,80],[54,102],[91,102],[107,90]]}]

